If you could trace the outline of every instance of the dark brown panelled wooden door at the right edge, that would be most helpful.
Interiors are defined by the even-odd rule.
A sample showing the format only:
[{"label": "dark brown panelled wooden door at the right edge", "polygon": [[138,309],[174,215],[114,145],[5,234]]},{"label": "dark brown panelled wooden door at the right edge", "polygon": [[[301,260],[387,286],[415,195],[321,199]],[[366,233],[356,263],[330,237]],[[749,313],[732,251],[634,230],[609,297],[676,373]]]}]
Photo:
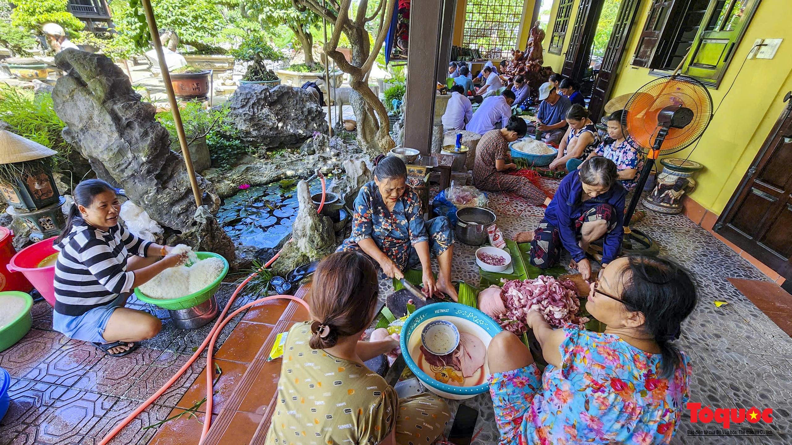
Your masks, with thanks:
[{"label": "dark brown panelled wooden door at the right edge", "polygon": [[792,292],[792,92],[714,230],[770,266]]}]

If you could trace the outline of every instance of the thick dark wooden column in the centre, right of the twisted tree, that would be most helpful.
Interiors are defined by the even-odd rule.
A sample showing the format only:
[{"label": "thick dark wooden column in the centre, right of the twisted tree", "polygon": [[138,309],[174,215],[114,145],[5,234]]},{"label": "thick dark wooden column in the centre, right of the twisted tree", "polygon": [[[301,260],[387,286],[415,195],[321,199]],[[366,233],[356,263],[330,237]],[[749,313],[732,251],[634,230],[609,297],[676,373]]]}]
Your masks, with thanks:
[{"label": "thick dark wooden column in the centre, right of the twisted tree", "polygon": [[443,3],[414,0],[410,5],[404,146],[423,154],[432,147]]}]

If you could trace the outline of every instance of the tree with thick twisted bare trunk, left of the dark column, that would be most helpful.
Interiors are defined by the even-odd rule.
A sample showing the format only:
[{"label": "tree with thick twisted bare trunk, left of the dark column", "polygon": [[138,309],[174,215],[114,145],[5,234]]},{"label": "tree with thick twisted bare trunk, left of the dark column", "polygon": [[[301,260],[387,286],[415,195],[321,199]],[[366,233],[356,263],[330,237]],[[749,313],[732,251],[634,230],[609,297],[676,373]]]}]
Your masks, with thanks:
[{"label": "tree with thick twisted bare trunk, left of the dark column", "polygon": [[[377,6],[372,8],[374,11],[371,15],[368,15],[370,13],[368,0],[360,0],[354,11],[354,17],[349,15],[352,0],[329,0],[325,2],[327,6],[316,0],[293,0],[293,2],[296,7],[310,9],[335,25],[333,36],[325,45],[325,54],[333,58],[336,66],[351,77],[349,85],[354,91],[349,99],[357,119],[358,141],[372,156],[388,152],[396,146],[389,134],[388,112],[379,98],[368,88],[368,73],[385,42],[396,0],[379,0]],[[367,24],[371,21],[379,25],[373,43],[367,30]],[[352,53],[350,62],[347,62],[341,51],[337,51],[341,33],[347,37],[350,45]]]}]

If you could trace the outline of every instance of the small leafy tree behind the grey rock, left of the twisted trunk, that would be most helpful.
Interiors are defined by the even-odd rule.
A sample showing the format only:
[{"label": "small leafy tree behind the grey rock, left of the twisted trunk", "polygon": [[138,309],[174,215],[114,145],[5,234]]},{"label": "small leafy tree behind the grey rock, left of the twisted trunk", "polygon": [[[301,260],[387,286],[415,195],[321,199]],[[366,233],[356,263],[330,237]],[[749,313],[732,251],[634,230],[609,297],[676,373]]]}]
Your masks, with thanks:
[{"label": "small leafy tree behind the grey rock, left of the twisted trunk", "polygon": [[295,6],[291,0],[249,0],[242,3],[242,10],[257,17],[262,26],[276,28],[286,25],[303,47],[306,65],[314,66],[314,36],[310,28],[318,25],[322,17],[303,6]]}]

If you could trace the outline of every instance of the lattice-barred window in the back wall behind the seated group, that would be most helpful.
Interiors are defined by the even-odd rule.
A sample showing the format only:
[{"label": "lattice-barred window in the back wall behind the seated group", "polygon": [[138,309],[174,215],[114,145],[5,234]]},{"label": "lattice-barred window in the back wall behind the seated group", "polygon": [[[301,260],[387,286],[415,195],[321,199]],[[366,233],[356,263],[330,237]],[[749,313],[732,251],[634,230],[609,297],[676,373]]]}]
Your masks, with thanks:
[{"label": "lattice-barred window in the back wall behind the seated group", "polygon": [[484,58],[511,58],[524,0],[467,0],[463,45]]}]

